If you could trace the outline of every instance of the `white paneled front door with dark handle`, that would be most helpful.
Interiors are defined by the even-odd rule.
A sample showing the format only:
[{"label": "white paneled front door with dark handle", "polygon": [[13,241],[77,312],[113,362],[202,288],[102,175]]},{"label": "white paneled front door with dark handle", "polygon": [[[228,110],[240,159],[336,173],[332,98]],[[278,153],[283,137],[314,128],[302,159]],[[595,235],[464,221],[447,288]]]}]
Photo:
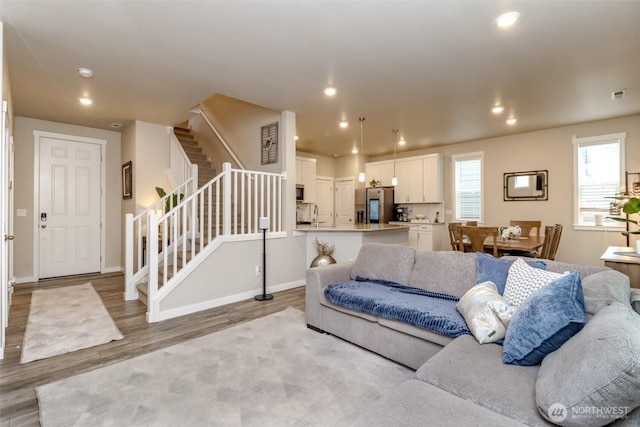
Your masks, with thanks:
[{"label": "white paneled front door with dark handle", "polygon": [[41,136],[39,278],[100,271],[101,146]]}]

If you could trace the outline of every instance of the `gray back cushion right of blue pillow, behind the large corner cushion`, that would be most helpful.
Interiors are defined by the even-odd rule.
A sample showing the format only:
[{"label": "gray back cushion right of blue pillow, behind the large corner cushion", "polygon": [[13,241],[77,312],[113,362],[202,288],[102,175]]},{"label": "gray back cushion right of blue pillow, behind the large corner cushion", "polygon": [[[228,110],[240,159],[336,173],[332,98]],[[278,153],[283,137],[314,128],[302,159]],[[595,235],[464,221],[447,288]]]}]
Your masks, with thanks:
[{"label": "gray back cushion right of blue pillow, behind the large corner cushion", "polygon": [[590,319],[614,301],[629,303],[629,277],[615,270],[601,271],[582,280],[582,292],[584,311],[587,319]]}]

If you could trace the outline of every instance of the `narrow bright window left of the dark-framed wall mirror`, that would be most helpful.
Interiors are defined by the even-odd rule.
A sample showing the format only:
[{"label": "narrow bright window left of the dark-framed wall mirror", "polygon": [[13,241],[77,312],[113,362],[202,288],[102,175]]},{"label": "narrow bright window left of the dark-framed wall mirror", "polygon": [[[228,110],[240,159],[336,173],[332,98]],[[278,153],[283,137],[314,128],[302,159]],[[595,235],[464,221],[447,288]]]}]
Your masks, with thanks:
[{"label": "narrow bright window left of the dark-framed wall mirror", "polygon": [[484,153],[451,156],[453,160],[454,220],[482,222],[482,159]]}]

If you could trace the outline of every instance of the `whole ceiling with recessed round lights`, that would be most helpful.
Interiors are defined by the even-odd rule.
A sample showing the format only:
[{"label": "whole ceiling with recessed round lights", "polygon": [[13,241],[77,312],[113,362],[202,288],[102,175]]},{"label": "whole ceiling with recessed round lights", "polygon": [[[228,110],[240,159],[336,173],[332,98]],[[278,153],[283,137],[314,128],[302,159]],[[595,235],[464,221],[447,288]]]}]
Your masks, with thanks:
[{"label": "whole ceiling with recessed round lights", "polygon": [[0,0],[0,20],[14,113],[95,128],[220,93],[295,112],[298,150],[327,156],[363,116],[371,156],[396,128],[408,151],[640,113],[640,1]]}]

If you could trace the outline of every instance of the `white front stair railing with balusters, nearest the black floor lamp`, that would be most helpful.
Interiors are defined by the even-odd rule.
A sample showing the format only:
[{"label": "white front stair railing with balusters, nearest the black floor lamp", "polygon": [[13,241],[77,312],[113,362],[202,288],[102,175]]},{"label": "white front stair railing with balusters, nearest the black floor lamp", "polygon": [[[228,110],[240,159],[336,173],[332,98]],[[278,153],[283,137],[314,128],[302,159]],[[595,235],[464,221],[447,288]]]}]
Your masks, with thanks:
[{"label": "white front stair railing with balusters, nearest the black floor lamp", "polygon": [[271,233],[283,231],[285,175],[222,168],[171,211],[147,214],[149,322],[161,319],[162,299],[222,241],[260,238],[260,217],[269,218]]}]

